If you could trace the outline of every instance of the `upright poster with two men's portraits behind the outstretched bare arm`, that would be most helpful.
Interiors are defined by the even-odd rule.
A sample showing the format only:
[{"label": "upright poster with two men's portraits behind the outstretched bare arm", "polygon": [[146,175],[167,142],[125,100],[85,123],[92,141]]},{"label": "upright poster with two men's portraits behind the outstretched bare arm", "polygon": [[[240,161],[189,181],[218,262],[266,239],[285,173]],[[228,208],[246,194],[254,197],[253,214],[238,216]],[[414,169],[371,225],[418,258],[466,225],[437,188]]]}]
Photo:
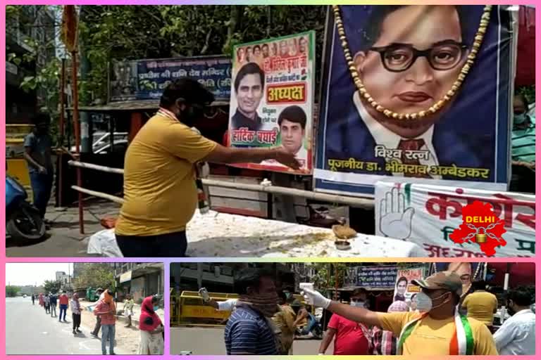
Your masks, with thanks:
[{"label": "upright poster with two men's portraits behind the outstretched bare arm", "polygon": [[[283,146],[301,162],[297,173],[311,173],[315,49],[315,32],[234,47],[230,146]],[[293,172],[275,160],[235,166]]]}]

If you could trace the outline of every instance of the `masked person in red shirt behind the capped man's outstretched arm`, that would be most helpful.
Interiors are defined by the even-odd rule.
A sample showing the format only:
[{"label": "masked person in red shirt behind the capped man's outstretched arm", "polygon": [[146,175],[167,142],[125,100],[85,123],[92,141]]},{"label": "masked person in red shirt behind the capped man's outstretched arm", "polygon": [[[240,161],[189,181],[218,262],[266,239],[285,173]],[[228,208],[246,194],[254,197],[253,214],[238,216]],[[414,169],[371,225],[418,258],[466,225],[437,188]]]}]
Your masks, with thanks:
[{"label": "masked person in red shirt behind the capped man's outstretched arm", "polygon": [[[366,290],[356,290],[350,297],[352,307],[364,308],[366,303]],[[371,336],[368,327],[363,323],[346,319],[343,316],[332,314],[327,326],[325,336],[319,347],[319,354],[327,351],[332,338],[335,339],[333,355],[368,355],[370,354]]]}]

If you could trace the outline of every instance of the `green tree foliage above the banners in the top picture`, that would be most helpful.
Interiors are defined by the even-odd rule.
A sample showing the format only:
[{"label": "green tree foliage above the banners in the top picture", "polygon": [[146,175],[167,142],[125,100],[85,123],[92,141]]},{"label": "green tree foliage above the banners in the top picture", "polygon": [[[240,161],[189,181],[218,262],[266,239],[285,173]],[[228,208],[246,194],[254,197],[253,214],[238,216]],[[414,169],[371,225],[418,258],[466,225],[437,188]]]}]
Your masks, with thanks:
[{"label": "green tree foliage above the banners in the top picture", "polygon": [[[19,7],[8,8],[7,17],[15,16]],[[319,71],[325,14],[326,6],[81,6],[79,52],[85,69],[79,80],[80,103],[107,98],[111,60],[230,54],[235,44],[307,30],[316,30]],[[24,60],[14,53],[11,57]],[[51,94],[47,108],[55,111],[59,70],[59,60],[51,59],[21,87],[46,88]]]}]

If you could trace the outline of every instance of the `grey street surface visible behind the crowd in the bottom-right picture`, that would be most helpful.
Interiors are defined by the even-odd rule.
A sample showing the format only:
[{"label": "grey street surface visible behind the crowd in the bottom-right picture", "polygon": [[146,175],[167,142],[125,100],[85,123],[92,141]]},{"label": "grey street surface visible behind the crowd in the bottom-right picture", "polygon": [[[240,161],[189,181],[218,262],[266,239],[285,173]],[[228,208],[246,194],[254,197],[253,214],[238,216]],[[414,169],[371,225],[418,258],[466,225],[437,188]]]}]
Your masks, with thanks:
[{"label": "grey street surface visible behind the crowd in the bottom-right picture", "polygon": [[[294,355],[317,355],[321,340],[295,340]],[[193,355],[225,355],[222,328],[171,328],[171,354],[191,351]],[[327,350],[332,354],[332,344]]]}]

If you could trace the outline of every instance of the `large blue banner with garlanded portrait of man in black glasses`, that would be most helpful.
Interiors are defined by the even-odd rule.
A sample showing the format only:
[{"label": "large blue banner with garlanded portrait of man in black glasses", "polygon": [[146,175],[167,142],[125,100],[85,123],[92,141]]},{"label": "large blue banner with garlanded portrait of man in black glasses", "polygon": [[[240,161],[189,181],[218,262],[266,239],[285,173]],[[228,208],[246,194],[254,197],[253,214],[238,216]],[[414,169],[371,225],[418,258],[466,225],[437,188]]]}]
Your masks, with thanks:
[{"label": "large blue banner with garlanded portrait of man in black glasses", "polygon": [[[505,190],[516,30],[506,6],[332,6],[314,188]],[[387,179],[387,180],[385,180]]]}]

